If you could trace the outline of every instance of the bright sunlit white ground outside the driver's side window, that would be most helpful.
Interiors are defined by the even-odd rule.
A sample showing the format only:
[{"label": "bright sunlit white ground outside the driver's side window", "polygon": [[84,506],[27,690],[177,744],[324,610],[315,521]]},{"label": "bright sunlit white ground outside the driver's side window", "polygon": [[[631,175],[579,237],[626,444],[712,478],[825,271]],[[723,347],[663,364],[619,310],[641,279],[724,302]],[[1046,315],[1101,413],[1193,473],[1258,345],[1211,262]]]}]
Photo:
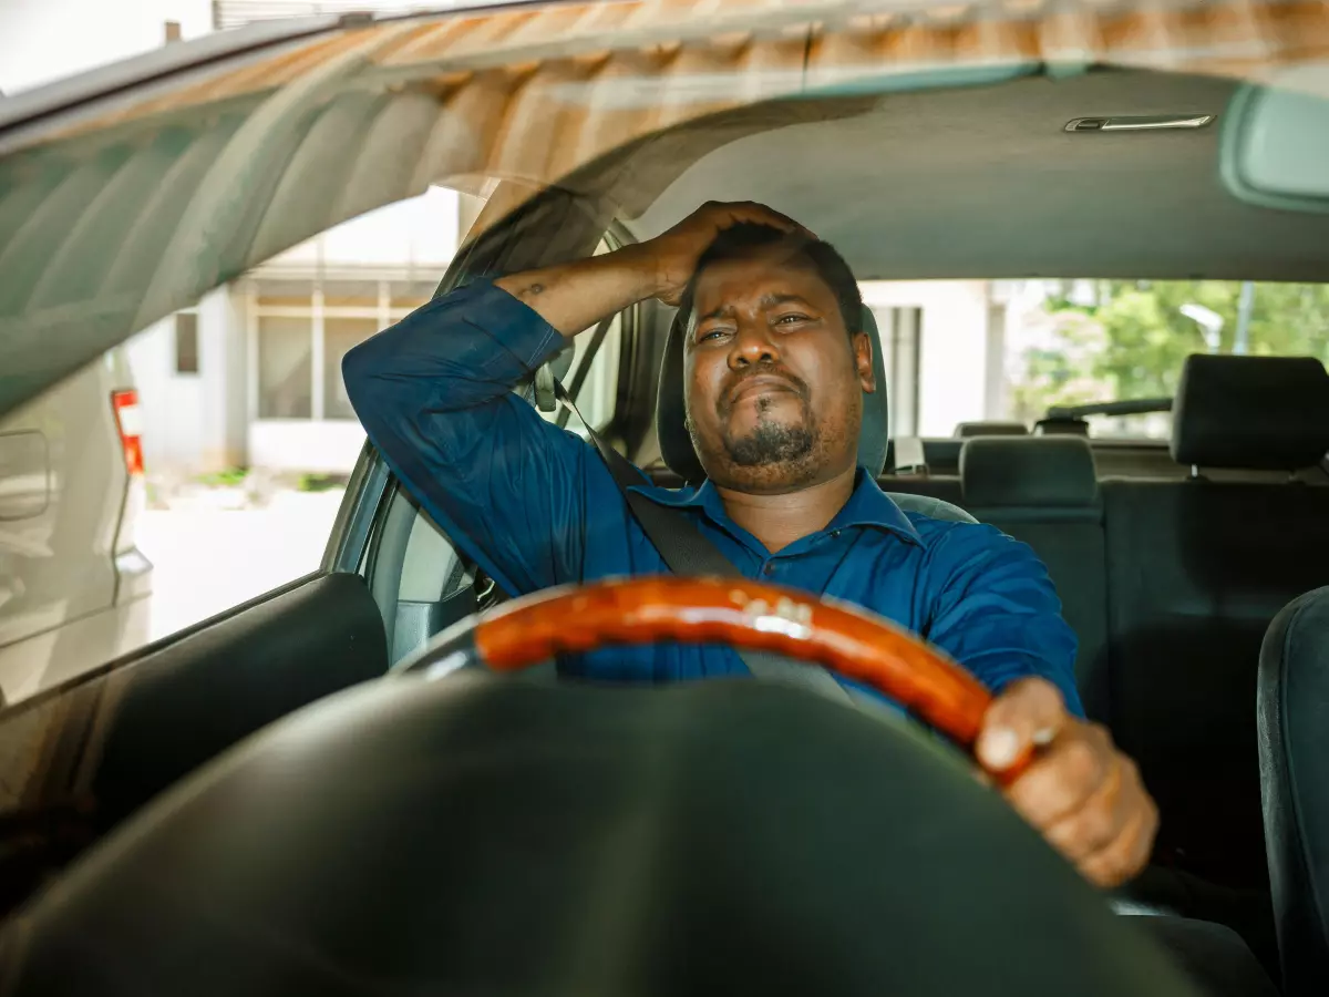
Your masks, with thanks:
[{"label": "bright sunlit white ground outside the driver's side window", "polygon": [[319,566],[342,489],[199,488],[142,513],[138,546],[153,562],[152,639],[308,574]]}]

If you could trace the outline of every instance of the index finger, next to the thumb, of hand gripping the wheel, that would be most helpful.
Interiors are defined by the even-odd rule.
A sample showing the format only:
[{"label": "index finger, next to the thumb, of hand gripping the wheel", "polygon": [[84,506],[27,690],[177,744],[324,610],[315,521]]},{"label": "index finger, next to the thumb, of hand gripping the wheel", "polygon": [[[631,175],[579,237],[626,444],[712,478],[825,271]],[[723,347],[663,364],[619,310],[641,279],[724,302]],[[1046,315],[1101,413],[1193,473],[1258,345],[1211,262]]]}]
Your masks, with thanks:
[{"label": "index finger, next to the thumb, of hand gripping the wheel", "polygon": [[1086,806],[1115,759],[1111,740],[1096,727],[1065,731],[1006,787],[1006,799],[1034,827],[1046,831]]}]

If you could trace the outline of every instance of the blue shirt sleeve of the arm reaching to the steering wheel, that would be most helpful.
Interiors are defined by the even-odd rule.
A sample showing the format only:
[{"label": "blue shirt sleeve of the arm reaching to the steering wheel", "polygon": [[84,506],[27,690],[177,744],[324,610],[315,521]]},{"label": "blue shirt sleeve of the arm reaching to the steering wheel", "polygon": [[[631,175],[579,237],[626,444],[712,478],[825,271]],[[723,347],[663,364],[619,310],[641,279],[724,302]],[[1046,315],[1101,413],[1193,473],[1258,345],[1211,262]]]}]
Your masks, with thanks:
[{"label": "blue shirt sleeve of the arm reaching to the steering wheel", "polygon": [[994,526],[957,524],[932,558],[941,584],[924,635],[994,693],[1038,675],[1083,717],[1075,631],[1062,619],[1057,589],[1033,549]]}]

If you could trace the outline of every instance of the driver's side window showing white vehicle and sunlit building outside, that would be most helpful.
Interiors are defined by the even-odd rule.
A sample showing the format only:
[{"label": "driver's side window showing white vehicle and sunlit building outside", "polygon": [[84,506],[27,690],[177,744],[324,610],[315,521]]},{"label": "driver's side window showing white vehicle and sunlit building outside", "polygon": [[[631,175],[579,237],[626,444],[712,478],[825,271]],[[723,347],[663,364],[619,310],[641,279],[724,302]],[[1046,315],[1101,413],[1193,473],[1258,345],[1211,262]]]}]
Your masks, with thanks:
[{"label": "driver's side window showing white vehicle and sunlit building outside", "polygon": [[[319,569],[364,444],[342,358],[431,299],[481,203],[432,187],[352,218],[5,413],[0,703]],[[416,538],[403,646],[473,604],[447,541]]]}]

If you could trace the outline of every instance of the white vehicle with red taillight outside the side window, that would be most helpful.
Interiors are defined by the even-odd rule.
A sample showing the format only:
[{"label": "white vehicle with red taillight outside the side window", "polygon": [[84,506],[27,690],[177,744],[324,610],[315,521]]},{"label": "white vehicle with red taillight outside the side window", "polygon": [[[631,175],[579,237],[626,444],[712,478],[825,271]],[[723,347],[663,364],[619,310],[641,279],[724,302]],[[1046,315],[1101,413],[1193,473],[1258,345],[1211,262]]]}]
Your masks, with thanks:
[{"label": "white vehicle with red taillight outside the side window", "polygon": [[148,641],[138,393],[116,348],[0,420],[0,694]]}]

